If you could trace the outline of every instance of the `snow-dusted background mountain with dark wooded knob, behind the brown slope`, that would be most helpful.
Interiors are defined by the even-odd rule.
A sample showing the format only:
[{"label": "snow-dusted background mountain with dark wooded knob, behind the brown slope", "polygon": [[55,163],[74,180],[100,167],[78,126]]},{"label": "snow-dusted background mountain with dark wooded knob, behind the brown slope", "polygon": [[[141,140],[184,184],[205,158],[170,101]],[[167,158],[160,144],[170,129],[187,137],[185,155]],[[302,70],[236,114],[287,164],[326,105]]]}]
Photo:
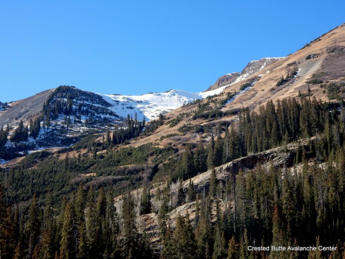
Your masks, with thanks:
[{"label": "snow-dusted background mountain with dark wooded knob, behind the brown slope", "polygon": [[[277,59],[279,58],[251,61],[233,81],[239,82]],[[29,125],[30,120],[39,117],[42,127],[38,136],[29,138],[30,149],[68,146],[90,132],[105,132],[121,126],[127,115],[140,121],[150,121],[197,99],[217,95],[226,86],[228,85],[214,89],[210,87],[207,91],[198,93],[171,89],[164,93],[137,96],[99,94],[74,86],[60,86],[1,105],[0,127],[8,126],[10,137],[21,120],[24,125]],[[10,143],[7,146],[13,147]]]}]

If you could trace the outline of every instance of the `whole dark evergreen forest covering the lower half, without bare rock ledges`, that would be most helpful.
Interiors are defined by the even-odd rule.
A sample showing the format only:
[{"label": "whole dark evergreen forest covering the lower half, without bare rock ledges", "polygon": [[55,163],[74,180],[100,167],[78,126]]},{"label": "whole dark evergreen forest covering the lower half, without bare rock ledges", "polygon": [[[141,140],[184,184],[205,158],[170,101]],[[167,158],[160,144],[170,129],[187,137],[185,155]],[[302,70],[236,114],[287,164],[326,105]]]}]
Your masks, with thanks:
[{"label": "whole dark evergreen forest covering the lower half, without bare rock ledges", "polygon": [[[131,136],[145,126],[130,117],[127,125]],[[230,126],[203,133],[206,147],[187,144],[183,153],[151,144],[113,150],[124,143],[122,134],[109,132],[101,141],[87,137],[65,150],[86,147],[92,155],[69,157],[62,151],[59,158],[43,151],[2,169],[1,259],[345,258],[342,101],[301,96],[269,101],[258,111],[244,109]],[[225,181],[217,178],[214,168],[221,164],[303,138],[309,138],[309,148],[298,148],[290,168],[258,164]],[[196,191],[191,178],[207,170],[209,185]],[[187,188],[182,181],[189,181]],[[113,198],[119,194],[116,211]],[[188,209],[173,222],[181,205]],[[142,217],[156,219],[157,240],[138,223]],[[248,251],[248,246],[337,250]]]}]

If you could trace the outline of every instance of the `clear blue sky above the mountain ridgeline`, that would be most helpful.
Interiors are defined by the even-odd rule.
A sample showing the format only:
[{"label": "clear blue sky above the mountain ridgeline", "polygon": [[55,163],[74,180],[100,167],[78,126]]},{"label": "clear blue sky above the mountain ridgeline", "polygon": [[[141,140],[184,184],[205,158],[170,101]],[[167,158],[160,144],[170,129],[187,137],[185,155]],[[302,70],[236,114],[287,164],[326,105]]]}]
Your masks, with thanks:
[{"label": "clear blue sky above the mountain ridgeline", "polygon": [[59,85],[202,91],[345,22],[345,1],[1,1],[0,101]]}]

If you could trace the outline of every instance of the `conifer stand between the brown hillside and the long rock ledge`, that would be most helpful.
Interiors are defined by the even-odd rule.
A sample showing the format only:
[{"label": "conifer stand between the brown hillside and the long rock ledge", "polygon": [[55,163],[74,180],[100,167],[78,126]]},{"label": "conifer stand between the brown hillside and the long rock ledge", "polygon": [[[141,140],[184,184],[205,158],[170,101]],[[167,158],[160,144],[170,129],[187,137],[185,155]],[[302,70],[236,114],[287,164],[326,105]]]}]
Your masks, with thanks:
[{"label": "conifer stand between the brown hillside and the long rock ledge", "polygon": [[[302,97],[269,101],[258,112],[245,109],[230,127],[212,129],[208,146],[189,146],[170,172],[171,181],[186,180],[215,166],[303,138],[317,136],[311,151],[324,160],[344,144],[345,104]],[[205,126],[204,126],[205,128]],[[296,157],[301,162],[301,152]]]}]

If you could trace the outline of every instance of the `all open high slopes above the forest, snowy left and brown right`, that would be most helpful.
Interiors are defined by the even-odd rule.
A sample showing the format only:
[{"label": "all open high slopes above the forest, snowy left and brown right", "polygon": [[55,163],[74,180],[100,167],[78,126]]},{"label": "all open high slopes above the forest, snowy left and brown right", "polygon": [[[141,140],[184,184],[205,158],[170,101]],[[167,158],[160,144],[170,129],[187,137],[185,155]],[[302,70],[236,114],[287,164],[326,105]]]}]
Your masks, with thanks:
[{"label": "all open high slopes above the forest, snowy left and brown right", "polygon": [[[206,143],[207,139],[193,130],[195,127],[201,125],[213,130],[219,122],[231,124],[242,108],[255,110],[268,100],[276,102],[278,99],[299,95],[328,100],[342,93],[339,85],[330,84],[345,81],[342,69],[345,65],[344,47],[345,27],[342,25],[286,58],[250,62],[240,76],[233,74],[236,77],[234,82],[229,84],[230,81],[224,81],[221,87],[199,93],[170,90],[165,93],[122,96],[70,88],[70,93],[60,93],[59,96],[54,94],[56,90],[48,90],[14,102],[9,108],[0,111],[0,126],[5,127],[8,123],[13,130],[21,118],[27,124],[30,118],[40,115],[40,136],[36,140],[30,139],[30,142],[41,147],[66,146],[77,141],[81,135],[105,132],[121,126],[127,114],[133,118],[137,114],[138,120],[145,118],[148,121],[160,113],[166,113],[168,119],[163,125],[148,136],[132,140],[131,145],[156,142],[163,147],[170,142],[176,146],[184,145],[185,142]],[[73,95],[69,108],[68,94]],[[54,98],[48,100],[50,95]],[[197,99],[203,100],[194,102]],[[49,104],[50,121],[49,127],[43,128],[47,121],[47,109],[42,110],[44,102]],[[214,111],[218,115],[207,118],[204,115],[194,116],[199,105],[207,107],[204,115]]]}]

